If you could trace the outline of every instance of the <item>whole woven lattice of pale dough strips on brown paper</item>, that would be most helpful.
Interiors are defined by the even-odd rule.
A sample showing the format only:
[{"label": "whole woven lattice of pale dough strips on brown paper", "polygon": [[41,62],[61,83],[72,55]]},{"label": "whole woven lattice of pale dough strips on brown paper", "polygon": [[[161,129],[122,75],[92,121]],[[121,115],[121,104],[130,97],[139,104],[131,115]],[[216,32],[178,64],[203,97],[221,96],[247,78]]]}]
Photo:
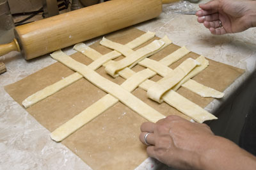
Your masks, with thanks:
[{"label": "whole woven lattice of pale dough strips on brown paper", "polygon": [[[78,128],[83,127],[84,124],[99,116],[99,114],[109,109],[109,107],[115,105],[118,101],[127,105],[148,121],[156,122],[164,118],[165,116],[163,114],[131,94],[131,92],[138,87],[146,90],[148,97],[152,98],[152,100],[156,100],[156,102],[159,103],[164,101],[195,121],[202,123],[205,120],[216,119],[211,113],[175,92],[175,90],[179,89],[182,84],[188,84],[187,82],[189,82],[186,88],[191,89],[192,91],[197,91],[199,94],[205,94],[210,90],[211,95],[217,94],[217,97],[218,95],[222,97],[223,95],[220,92],[190,80],[191,77],[194,77],[209,65],[208,61],[204,56],[200,56],[197,59],[188,58],[174,70],[169,68],[168,66],[189,53],[189,50],[186,49],[186,47],[181,47],[180,49],[175,50],[175,52],[172,52],[160,61],[148,59],[147,57],[156,54],[172,43],[166,36],[161,40],[154,40],[138,50],[132,50],[141,44],[148,42],[148,40],[152,38],[154,38],[154,33],[149,31],[125,45],[111,42],[110,40],[103,38],[100,44],[113,49],[113,51],[104,55],[87,47],[84,43],[75,45],[74,49],[93,60],[88,66],[70,58],[70,56],[67,56],[67,54],[61,50],[52,53],[52,58],[60,61],[63,65],[68,66],[76,71],[76,73],[73,73],[61,81],[31,95],[26,98],[22,104],[25,107],[29,107],[83,77],[98,88],[109,93],[90,105],[90,107],[86,108],[83,112],[77,114],[77,116],[61,125],[61,127],[54,130],[54,132],[51,133],[51,137],[54,141],[62,141]],[[121,55],[124,55],[125,58],[120,59],[119,61],[112,60]],[[137,64],[145,66],[146,68],[140,72],[132,71],[131,68]],[[105,66],[106,72],[111,76],[118,77],[120,75],[126,79],[126,81],[121,85],[118,85],[102,77],[99,73],[95,72],[100,66]],[[157,82],[150,81],[149,79],[156,74],[161,75],[163,79]],[[199,89],[199,92],[198,86],[203,87]]]}]

